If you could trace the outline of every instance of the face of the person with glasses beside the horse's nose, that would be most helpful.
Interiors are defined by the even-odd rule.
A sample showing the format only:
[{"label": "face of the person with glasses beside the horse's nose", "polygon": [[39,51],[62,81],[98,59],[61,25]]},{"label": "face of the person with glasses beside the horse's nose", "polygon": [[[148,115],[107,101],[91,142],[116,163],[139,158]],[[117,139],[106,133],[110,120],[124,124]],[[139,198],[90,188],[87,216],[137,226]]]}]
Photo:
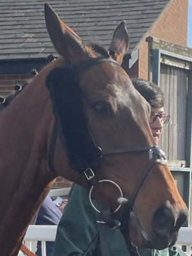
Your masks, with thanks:
[{"label": "face of the person with glasses beside the horse's nose", "polygon": [[[151,108],[151,116],[154,114],[163,114],[164,109],[163,108]],[[149,124],[150,129],[152,131],[152,134],[154,136],[154,140],[156,141],[156,144],[159,142],[159,138],[161,136],[161,133],[163,132],[163,124],[159,117],[156,118],[155,122],[152,124]]]}]

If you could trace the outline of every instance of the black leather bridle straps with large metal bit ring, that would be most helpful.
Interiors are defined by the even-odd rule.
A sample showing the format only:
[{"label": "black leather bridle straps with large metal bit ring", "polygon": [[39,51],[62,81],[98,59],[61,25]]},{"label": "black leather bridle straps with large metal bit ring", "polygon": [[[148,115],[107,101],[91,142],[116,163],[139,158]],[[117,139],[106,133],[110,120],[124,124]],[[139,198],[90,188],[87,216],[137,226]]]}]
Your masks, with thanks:
[{"label": "black leather bridle straps with large metal bit ring", "polygon": [[[103,56],[99,56],[97,58],[91,58],[88,60],[81,61],[80,63],[77,63],[76,65],[74,65],[72,68],[73,68],[74,72],[77,74],[79,72],[87,70],[88,68],[92,67],[93,65],[97,65],[102,62],[111,62],[111,63],[115,63],[115,65],[118,65],[118,63],[111,58],[105,58]],[[111,149],[111,150],[102,150],[102,148],[100,148],[96,145],[90,129],[88,129],[88,133],[90,136],[90,140],[92,140],[92,142],[96,148],[95,151],[97,151],[98,158],[101,158],[102,156],[113,155],[113,154],[124,154],[124,153],[132,153],[132,152],[148,152],[148,155],[149,155],[148,164],[145,167],[145,169],[143,170],[143,173],[141,174],[140,179],[138,180],[138,182],[132,192],[132,195],[130,196],[129,199],[124,198],[122,189],[113,180],[107,180],[107,179],[106,180],[98,180],[95,175],[95,170],[93,170],[93,168],[88,167],[85,170],[83,170],[83,172],[82,172],[82,173],[84,173],[86,180],[88,180],[88,182],[90,184],[90,193],[89,193],[90,204],[92,205],[93,209],[95,209],[95,211],[99,212],[100,215],[102,216],[102,220],[99,221],[99,223],[105,223],[111,228],[120,226],[122,233],[127,234],[128,231],[127,231],[126,227],[128,227],[127,224],[128,224],[129,218],[130,218],[130,214],[132,212],[134,200],[136,199],[136,196],[138,195],[138,192],[140,191],[140,188],[141,188],[145,178],[147,177],[148,173],[150,172],[153,164],[156,162],[157,159],[161,159],[161,160],[166,159],[165,154],[164,154],[163,150],[161,150],[161,148],[159,148],[157,146],[136,147],[136,148],[127,147],[127,148],[115,148],[115,149]],[[56,127],[56,123],[54,123],[54,127],[52,129],[51,141],[50,141],[50,145],[49,145],[49,168],[51,169],[51,171],[53,173],[56,173],[54,170],[54,150],[55,150],[57,136],[58,136],[57,135],[57,127]],[[97,184],[100,184],[102,182],[109,182],[109,183],[113,184],[114,186],[116,186],[116,188],[118,188],[118,190],[120,191],[120,197],[118,198],[119,205],[113,212],[111,212],[110,209],[102,209],[101,211],[99,211],[95,207],[95,205],[93,205],[92,190]],[[122,218],[122,223],[120,224],[120,221],[115,220],[115,213],[118,211],[118,209],[120,209],[120,207],[122,205],[124,205],[124,214],[123,214],[123,218]],[[126,218],[124,218],[124,216],[126,216]],[[128,216],[128,218],[127,218],[127,216]]]}]

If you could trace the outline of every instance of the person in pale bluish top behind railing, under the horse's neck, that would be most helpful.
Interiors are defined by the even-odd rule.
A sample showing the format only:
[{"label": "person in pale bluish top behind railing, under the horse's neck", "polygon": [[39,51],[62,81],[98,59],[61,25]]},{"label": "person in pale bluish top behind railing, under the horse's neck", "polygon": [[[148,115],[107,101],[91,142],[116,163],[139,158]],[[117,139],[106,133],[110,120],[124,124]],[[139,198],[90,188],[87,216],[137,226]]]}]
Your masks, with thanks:
[{"label": "person in pale bluish top behind railing, under the horse's neck", "polygon": [[[54,201],[52,201],[49,195],[46,196],[38,211],[35,225],[58,225],[64,211],[65,204],[66,200],[63,200],[60,196],[58,196]],[[46,242],[46,255],[53,256],[53,252],[54,242]],[[35,253],[38,256],[42,256],[42,245],[40,241],[37,242]]]}]

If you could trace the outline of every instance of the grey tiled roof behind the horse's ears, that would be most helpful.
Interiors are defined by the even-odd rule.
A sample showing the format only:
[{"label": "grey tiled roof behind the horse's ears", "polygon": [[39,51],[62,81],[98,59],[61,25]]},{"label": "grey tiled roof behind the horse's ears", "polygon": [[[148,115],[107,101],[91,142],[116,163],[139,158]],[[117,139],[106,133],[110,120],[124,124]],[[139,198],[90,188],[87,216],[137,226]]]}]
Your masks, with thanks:
[{"label": "grey tiled roof behind the horse's ears", "polygon": [[126,20],[132,52],[171,0],[1,0],[0,60],[58,56],[45,28],[44,3],[84,42],[108,47],[116,26]]}]

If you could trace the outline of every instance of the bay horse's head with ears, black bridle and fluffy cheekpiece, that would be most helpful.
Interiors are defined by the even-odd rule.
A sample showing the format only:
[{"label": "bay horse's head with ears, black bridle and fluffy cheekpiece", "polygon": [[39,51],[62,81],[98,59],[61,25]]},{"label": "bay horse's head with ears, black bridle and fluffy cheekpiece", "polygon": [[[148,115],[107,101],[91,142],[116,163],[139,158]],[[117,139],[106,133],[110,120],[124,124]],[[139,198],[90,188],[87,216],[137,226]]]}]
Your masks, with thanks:
[{"label": "bay horse's head with ears, black bridle and fluffy cheekpiece", "polygon": [[[188,210],[163,152],[154,147],[150,106],[120,67],[129,47],[125,22],[101,56],[48,4],[45,21],[52,44],[63,57],[46,81],[70,174],[63,173],[57,156],[54,170],[91,188],[91,203],[95,198],[121,222],[127,243],[157,249],[172,246]],[[57,144],[57,155],[58,148]]]}]

